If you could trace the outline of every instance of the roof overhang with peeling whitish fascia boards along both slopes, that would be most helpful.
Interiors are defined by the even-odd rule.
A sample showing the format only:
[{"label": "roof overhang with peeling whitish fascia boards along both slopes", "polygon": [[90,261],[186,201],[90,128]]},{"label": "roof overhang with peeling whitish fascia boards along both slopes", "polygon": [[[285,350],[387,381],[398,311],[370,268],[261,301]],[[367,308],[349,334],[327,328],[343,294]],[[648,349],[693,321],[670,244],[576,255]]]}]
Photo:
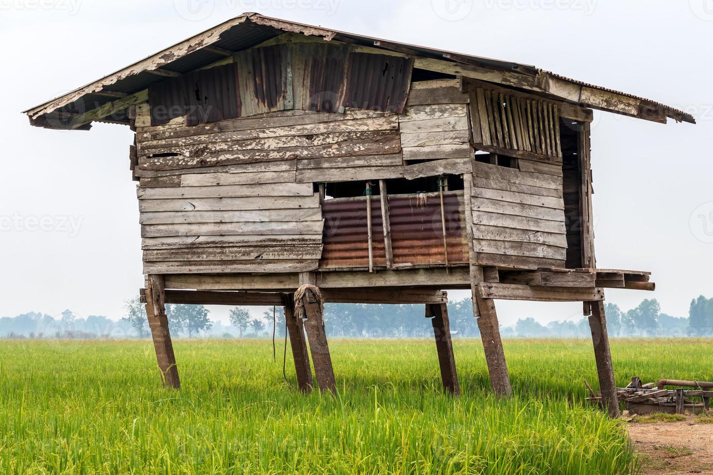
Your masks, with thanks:
[{"label": "roof overhang with peeling whitish fascia boards along both slopes", "polygon": [[[305,36],[319,36],[324,38],[325,41],[350,43],[357,51],[410,56],[415,58],[414,66],[416,68],[447,72],[453,75],[462,75],[466,78],[474,78],[515,88],[533,90],[568,103],[627,115],[633,118],[661,123],[666,123],[667,118],[672,118],[677,122],[696,122],[692,115],[653,100],[582,83],[548,71],[539,70],[534,66],[508,63],[478,56],[461,55],[405,43],[384,41],[379,38],[359,36],[353,33],[334,31],[317,26],[297,24],[255,13],[242,14],[235,19],[225,21],[210,30],[192,36],[169,48],[165,48],[163,51],[148,58],[144,58],[138,61],[138,63],[134,63],[131,66],[107,75],[93,83],[84,85],[70,93],[49,100],[34,108],[30,108],[24,111],[24,113],[29,116],[31,124],[38,127],[86,130],[91,126],[92,120],[103,120],[118,110],[125,110],[130,105],[143,102],[143,100],[145,100],[145,98],[143,98],[145,88],[128,93],[125,98],[102,104],[101,107],[96,108],[97,110],[88,111],[90,113],[93,112],[89,115],[81,114],[81,118],[78,120],[72,120],[72,118],[70,118],[68,121],[62,121],[51,120],[51,118],[59,118],[62,114],[75,114],[73,112],[65,113],[59,111],[61,108],[76,103],[76,101],[81,100],[87,95],[111,95],[112,91],[110,86],[130,76],[146,72],[153,72],[158,75],[164,73],[170,74],[170,70],[165,71],[163,69],[165,66],[169,66],[173,61],[185,58],[198,51],[219,50],[220,48],[215,48],[212,45],[220,41],[221,37],[231,28],[245,23],[254,24],[255,28],[270,31],[270,36],[279,36],[279,34],[282,33],[299,33]],[[101,115],[105,112],[106,115],[102,117]]]}]

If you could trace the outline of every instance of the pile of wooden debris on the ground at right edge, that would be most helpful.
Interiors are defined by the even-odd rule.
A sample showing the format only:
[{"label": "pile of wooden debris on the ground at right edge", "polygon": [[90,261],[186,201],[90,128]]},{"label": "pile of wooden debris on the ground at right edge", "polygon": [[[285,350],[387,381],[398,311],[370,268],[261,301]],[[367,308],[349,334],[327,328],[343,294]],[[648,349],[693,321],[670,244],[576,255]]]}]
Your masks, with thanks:
[{"label": "pile of wooden debris on the ground at right edge", "polygon": [[[695,389],[679,387],[667,390],[664,385],[689,386]],[[585,386],[591,397],[587,401],[601,404],[601,392],[595,393],[588,382]],[[706,390],[709,389],[709,390]],[[698,414],[710,408],[710,399],[713,397],[713,383],[679,380],[660,380],[642,384],[638,377],[632,377],[627,387],[617,387],[617,399],[624,402],[630,412],[635,414],[652,414],[654,412],[667,412],[670,414],[684,414],[692,412]]]}]

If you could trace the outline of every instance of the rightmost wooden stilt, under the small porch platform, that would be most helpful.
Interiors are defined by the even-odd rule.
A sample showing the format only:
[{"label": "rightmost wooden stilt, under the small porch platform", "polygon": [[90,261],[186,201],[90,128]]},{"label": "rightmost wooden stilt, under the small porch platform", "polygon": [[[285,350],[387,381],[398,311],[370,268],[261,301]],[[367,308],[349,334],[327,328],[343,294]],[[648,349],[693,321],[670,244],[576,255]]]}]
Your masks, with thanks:
[{"label": "rightmost wooden stilt, under the small porch platform", "polygon": [[619,400],[617,399],[616,383],[614,380],[612,354],[609,349],[609,335],[607,334],[607,318],[604,314],[604,302],[590,302],[589,306],[592,309],[592,315],[589,315],[589,326],[590,330],[592,330],[594,357],[597,361],[602,404],[607,408],[610,417],[619,417]]}]

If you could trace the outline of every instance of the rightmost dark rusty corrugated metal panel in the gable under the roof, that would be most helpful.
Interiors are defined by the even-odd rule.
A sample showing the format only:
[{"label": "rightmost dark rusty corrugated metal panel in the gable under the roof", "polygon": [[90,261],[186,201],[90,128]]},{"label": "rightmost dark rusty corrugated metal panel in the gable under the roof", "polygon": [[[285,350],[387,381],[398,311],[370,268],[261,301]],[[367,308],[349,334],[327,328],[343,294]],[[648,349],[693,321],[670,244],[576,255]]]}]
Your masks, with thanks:
[{"label": "rightmost dark rusty corrugated metal panel in the gable under the roof", "polygon": [[414,61],[384,54],[349,54],[344,107],[403,113]]}]

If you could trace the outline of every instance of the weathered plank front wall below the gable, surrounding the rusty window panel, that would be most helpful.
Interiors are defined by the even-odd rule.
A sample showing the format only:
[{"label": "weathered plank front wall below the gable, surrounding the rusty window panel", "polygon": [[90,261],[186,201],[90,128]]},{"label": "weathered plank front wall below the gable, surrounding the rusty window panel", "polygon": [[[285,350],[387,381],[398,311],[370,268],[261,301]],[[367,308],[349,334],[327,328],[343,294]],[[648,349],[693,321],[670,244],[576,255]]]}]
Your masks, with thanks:
[{"label": "weathered plank front wall below the gable, surrounding the rusty window panel", "polygon": [[[329,83],[332,76],[334,72],[324,73],[319,84]],[[293,80],[304,83],[304,73]],[[314,92],[316,86],[309,87]],[[344,241],[342,234],[350,226],[343,219],[327,223],[322,254],[324,214],[314,182],[471,171],[468,96],[454,80],[414,83],[414,91],[413,105],[404,114],[282,110],[190,127],[183,118],[151,126],[149,108],[137,108],[134,172],[140,179],[145,272],[308,271],[320,258],[322,268],[365,266],[366,238],[354,238],[361,236],[356,232],[356,241]],[[295,100],[299,107],[314,105],[313,97],[295,95]],[[414,160],[418,157],[416,165],[404,160],[402,144]],[[464,263],[466,243],[458,217],[462,199],[453,201],[451,194],[446,199],[451,263]],[[378,198],[372,201],[372,232],[379,236],[381,204]],[[337,204],[335,200],[324,208]],[[443,264],[440,214],[432,212],[429,222],[421,223],[433,234],[432,245],[425,246],[430,251],[421,255],[414,254],[420,248],[414,247],[419,236],[409,234],[413,226],[404,227],[401,207],[394,212],[397,263]],[[400,232],[406,233],[403,239]],[[374,240],[372,252],[374,265],[385,265],[383,239]]]}]

